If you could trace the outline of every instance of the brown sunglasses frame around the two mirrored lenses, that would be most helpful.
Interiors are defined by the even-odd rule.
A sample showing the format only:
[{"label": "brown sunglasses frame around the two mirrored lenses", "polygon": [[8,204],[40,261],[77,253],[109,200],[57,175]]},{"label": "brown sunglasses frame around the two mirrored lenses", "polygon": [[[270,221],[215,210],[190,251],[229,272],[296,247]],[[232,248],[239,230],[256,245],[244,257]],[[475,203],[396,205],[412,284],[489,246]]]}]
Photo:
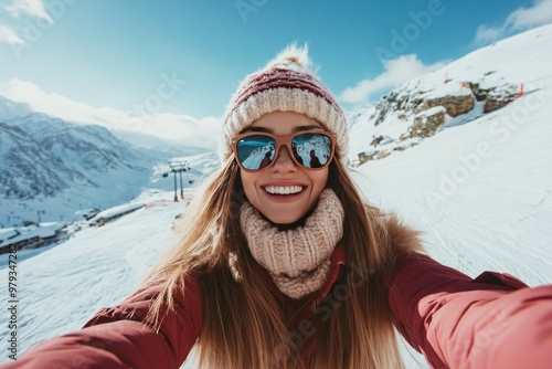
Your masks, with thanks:
[{"label": "brown sunglasses frame around the two mirrored lenses", "polygon": [[[328,161],[323,166],[321,166],[321,167],[309,168],[309,167],[300,164],[297,160],[297,158],[295,157],[295,155],[294,155],[294,150],[291,148],[291,140],[295,137],[297,137],[297,136],[307,135],[307,134],[323,135],[323,136],[328,136],[330,138],[330,144],[331,144],[330,156],[328,158]],[[240,161],[240,157],[237,156],[237,143],[241,139],[243,139],[245,137],[250,137],[250,136],[267,136],[267,137],[270,137],[272,139],[274,139],[276,141],[276,152],[274,154],[274,159],[270,161],[269,165],[267,165],[264,168],[261,168],[261,169],[247,169]],[[236,160],[236,162],[240,166],[240,168],[242,168],[242,170],[245,170],[245,171],[248,171],[248,172],[263,171],[263,170],[266,170],[266,169],[270,168],[272,166],[274,166],[274,164],[278,159],[278,155],[279,155],[279,151],[280,151],[280,149],[282,149],[283,146],[287,147],[287,150],[289,152],[289,156],[291,157],[291,160],[299,168],[304,168],[304,169],[307,169],[307,170],[320,170],[320,169],[323,169],[327,166],[329,166],[330,162],[331,162],[331,160],[333,160],[333,156],[336,155],[336,140],[337,140],[337,135],[335,133],[328,131],[328,130],[323,130],[323,129],[299,130],[299,131],[294,131],[294,133],[291,133],[290,135],[287,135],[287,136],[276,136],[276,135],[273,135],[273,134],[269,134],[269,133],[266,133],[266,131],[251,130],[251,131],[246,131],[244,134],[237,135],[237,136],[235,136],[232,139],[232,151],[234,152],[234,159]]]}]

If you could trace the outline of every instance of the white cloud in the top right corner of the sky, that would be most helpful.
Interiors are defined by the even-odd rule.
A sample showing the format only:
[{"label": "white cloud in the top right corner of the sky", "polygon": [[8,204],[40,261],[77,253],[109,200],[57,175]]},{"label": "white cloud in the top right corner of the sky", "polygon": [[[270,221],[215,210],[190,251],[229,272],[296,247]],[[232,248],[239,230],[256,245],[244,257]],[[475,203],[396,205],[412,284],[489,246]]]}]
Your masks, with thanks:
[{"label": "white cloud in the top right corner of the sky", "polygon": [[552,0],[534,0],[530,8],[518,8],[499,27],[480,25],[475,42],[486,44],[506,38],[516,31],[552,22]]}]

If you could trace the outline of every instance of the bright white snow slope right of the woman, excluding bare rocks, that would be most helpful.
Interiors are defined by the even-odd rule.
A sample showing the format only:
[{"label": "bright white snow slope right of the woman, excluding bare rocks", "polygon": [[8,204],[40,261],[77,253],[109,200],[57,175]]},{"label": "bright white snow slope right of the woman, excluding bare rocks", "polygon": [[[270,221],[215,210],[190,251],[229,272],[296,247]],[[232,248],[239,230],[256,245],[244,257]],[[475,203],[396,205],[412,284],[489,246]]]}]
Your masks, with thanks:
[{"label": "bright white snow slope right of the woman, excluding bare rocks", "polygon": [[526,95],[359,168],[370,200],[397,210],[426,232],[433,256],[471,275],[492,268],[532,285],[552,282],[550,44],[546,25],[407,83],[431,91],[445,75],[496,71],[489,78],[524,81]]}]

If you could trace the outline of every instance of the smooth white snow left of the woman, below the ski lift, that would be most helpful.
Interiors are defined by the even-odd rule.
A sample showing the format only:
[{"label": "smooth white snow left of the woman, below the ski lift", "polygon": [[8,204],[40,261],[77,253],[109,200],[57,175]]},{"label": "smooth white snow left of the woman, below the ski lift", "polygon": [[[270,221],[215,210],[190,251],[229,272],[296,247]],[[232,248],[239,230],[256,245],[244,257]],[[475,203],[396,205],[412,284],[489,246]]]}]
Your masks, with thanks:
[{"label": "smooth white snow left of the woman, below the ski lift", "polygon": [[[163,197],[172,199],[170,192]],[[20,352],[81,328],[100,307],[120,303],[138,287],[170,243],[172,221],[182,210],[183,203],[172,201],[142,208],[19,262]],[[7,281],[6,266],[0,272]],[[6,314],[1,325],[8,326]],[[6,334],[0,334],[4,342]]]}]

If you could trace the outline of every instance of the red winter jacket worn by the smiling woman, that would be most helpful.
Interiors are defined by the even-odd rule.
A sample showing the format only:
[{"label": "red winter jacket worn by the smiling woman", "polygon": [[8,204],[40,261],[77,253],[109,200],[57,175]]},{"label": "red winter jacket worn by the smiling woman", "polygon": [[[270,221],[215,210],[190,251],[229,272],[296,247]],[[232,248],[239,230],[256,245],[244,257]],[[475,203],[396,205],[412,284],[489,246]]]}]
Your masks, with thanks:
[{"label": "red winter jacket worn by the smiling woman", "polygon": [[[319,302],[343,274],[344,260],[338,246]],[[141,323],[159,292],[158,285],[146,285],[119,306],[98,312],[82,330],[40,344],[0,369],[179,368],[201,331],[200,286],[190,278],[185,288],[159,333]],[[552,286],[529,288],[490,272],[471,280],[414,254],[399,261],[389,303],[400,333],[433,368],[551,367]]]}]

